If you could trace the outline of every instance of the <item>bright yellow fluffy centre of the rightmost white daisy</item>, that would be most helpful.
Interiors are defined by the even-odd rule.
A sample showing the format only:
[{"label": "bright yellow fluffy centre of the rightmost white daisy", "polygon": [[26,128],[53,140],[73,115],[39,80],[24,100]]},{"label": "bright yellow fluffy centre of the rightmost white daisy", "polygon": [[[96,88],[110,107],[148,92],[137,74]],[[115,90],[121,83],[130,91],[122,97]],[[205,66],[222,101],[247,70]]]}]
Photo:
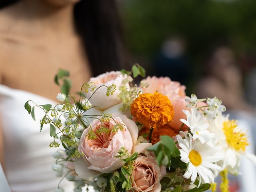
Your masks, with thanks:
[{"label": "bright yellow fluffy centre of the rightmost white daisy", "polygon": [[226,136],[228,146],[236,151],[245,151],[245,147],[249,144],[247,142],[247,136],[237,128],[236,120],[228,120],[224,122],[223,131]]}]

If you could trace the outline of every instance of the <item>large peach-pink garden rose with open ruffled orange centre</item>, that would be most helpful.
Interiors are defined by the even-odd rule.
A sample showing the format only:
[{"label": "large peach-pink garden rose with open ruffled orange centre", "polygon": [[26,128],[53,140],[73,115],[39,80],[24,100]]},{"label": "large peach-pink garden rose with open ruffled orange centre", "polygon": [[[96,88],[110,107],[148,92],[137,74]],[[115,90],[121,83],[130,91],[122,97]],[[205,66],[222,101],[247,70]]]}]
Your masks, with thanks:
[{"label": "large peach-pink garden rose with open ruffled orange centre", "polygon": [[[151,146],[149,143],[136,145],[138,127],[134,121],[118,113],[112,114],[112,117],[114,120],[100,122],[96,119],[90,124],[93,132],[97,135],[96,139],[88,138],[89,128],[84,130],[81,136],[78,151],[83,154],[83,158],[75,160],[75,170],[78,176],[85,180],[94,180],[99,174],[111,173],[122,167],[124,162],[115,157],[121,147],[126,148],[128,152],[136,150],[140,153]],[[113,132],[112,129],[116,123],[122,124],[123,130]],[[110,132],[98,134],[96,131],[102,126]]]}]

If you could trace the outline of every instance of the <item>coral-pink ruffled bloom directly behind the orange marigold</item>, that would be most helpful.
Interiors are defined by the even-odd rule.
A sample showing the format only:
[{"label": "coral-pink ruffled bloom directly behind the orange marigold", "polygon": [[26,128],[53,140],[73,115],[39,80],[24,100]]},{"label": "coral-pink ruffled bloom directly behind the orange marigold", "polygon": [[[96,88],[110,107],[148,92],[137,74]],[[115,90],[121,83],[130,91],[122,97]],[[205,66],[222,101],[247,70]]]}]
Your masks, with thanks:
[{"label": "coral-pink ruffled bloom directly behind the orange marigold", "polygon": [[[174,108],[174,118],[173,121],[168,122],[168,125],[175,130],[179,131],[182,122],[180,119],[186,118],[186,115],[182,112],[182,110],[187,110],[186,102],[185,102],[185,89],[184,85],[180,85],[179,82],[172,81],[168,77],[147,77],[143,80],[143,82],[149,84],[147,88],[144,88],[144,93],[154,93],[155,91],[160,92],[166,95],[170,101],[172,102]],[[183,127],[185,128],[185,127]]]}]

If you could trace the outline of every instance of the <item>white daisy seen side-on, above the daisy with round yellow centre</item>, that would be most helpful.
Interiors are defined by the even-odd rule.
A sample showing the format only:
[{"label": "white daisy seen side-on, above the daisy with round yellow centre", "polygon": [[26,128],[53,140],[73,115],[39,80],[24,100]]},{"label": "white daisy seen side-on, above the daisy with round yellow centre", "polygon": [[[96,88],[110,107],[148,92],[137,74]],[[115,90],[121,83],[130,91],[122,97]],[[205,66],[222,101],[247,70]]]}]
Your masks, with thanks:
[{"label": "white daisy seen side-on, above the daisy with round yellow centre", "polygon": [[214,134],[207,130],[209,123],[206,117],[196,108],[191,108],[191,113],[188,110],[183,110],[183,112],[187,119],[180,119],[180,121],[190,128],[193,134],[192,138],[200,140],[202,144],[209,143],[212,146],[211,138],[214,137]]}]

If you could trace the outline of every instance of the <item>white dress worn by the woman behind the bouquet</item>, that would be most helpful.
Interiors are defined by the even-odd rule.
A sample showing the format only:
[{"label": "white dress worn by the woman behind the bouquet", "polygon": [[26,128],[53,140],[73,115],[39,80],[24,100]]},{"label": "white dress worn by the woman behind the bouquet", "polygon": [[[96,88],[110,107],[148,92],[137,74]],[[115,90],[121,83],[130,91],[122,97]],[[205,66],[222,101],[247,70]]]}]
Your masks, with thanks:
[{"label": "white dress worn by the woman behind the bouquet", "polygon": [[[56,148],[50,148],[49,129],[40,132],[43,112],[35,109],[36,121],[24,109],[27,100],[36,104],[56,104],[54,101],[23,90],[0,84],[0,118],[4,139],[6,177],[12,192],[54,192],[61,177],[52,171]],[[72,182],[60,184],[72,192]]]}]

